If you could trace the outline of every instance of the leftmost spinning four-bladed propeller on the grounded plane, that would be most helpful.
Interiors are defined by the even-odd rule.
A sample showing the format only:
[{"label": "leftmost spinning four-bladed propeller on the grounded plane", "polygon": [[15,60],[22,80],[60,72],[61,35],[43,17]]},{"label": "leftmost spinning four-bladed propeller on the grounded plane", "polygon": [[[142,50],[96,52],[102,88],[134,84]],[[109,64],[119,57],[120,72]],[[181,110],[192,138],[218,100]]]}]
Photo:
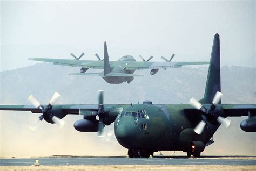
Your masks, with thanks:
[{"label": "leftmost spinning four-bladed propeller on the grounded plane", "polygon": [[52,98],[50,99],[49,104],[46,106],[46,108],[44,108],[44,106],[41,105],[33,95],[29,96],[28,100],[30,101],[30,103],[33,104],[36,108],[38,108],[42,113],[42,115],[39,116],[39,118],[32,124],[32,126],[29,126],[29,128],[32,131],[35,131],[38,128],[39,123],[41,123],[43,119],[46,120],[46,122],[49,122],[52,124],[55,123],[60,128],[63,127],[63,125],[65,124],[64,120],[61,120],[60,118],[54,116],[51,112],[53,104],[56,102],[56,100],[59,97],[60,97],[59,93],[55,92]]}]

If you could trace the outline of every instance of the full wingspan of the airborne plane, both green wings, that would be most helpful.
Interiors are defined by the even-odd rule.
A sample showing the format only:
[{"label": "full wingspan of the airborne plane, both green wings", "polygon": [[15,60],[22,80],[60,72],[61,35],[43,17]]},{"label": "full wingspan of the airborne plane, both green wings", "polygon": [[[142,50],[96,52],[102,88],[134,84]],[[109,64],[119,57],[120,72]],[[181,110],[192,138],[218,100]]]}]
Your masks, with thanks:
[{"label": "full wingspan of the airborne plane, both green wings", "polygon": [[[50,59],[50,58],[29,58],[33,61],[51,62],[55,65],[84,67],[93,69],[104,69],[104,61],[71,60],[71,59]],[[187,65],[205,65],[209,62],[143,62],[143,61],[110,61],[110,67],[120,66],[125,70],[137,69],[166,69],[178,68]]]}]

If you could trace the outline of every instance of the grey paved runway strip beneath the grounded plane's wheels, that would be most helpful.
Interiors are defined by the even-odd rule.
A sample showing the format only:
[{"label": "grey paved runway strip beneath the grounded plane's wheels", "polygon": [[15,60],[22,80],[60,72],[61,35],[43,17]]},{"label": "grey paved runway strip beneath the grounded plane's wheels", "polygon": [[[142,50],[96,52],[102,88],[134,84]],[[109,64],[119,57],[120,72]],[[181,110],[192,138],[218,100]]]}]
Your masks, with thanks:
[{"label": "grey paved runway strip beneath the grounded plane's wheels", "polygon": [[[0,159],[0,166],[31,166],[37,158]],[[38,158],[41,165],[230,165],[255,166],[255,157],[246,156],[204,156],[202,158],[165,157],[134,158],[125,157],[71,157],[71,158]]]}]

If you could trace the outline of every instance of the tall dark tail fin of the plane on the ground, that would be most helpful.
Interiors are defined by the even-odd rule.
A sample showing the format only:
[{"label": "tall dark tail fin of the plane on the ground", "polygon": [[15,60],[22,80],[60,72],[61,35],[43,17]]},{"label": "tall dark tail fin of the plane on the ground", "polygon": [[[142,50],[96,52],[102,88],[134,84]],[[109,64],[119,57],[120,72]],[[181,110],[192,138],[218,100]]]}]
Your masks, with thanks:
[{"label": "tall dark tail fin of the plane on the ground", "polygon": [[200,102],[212,103],[212,99],[217,91],[220,92],[220,37],[218,33],[214,35],[205,95]]}]

